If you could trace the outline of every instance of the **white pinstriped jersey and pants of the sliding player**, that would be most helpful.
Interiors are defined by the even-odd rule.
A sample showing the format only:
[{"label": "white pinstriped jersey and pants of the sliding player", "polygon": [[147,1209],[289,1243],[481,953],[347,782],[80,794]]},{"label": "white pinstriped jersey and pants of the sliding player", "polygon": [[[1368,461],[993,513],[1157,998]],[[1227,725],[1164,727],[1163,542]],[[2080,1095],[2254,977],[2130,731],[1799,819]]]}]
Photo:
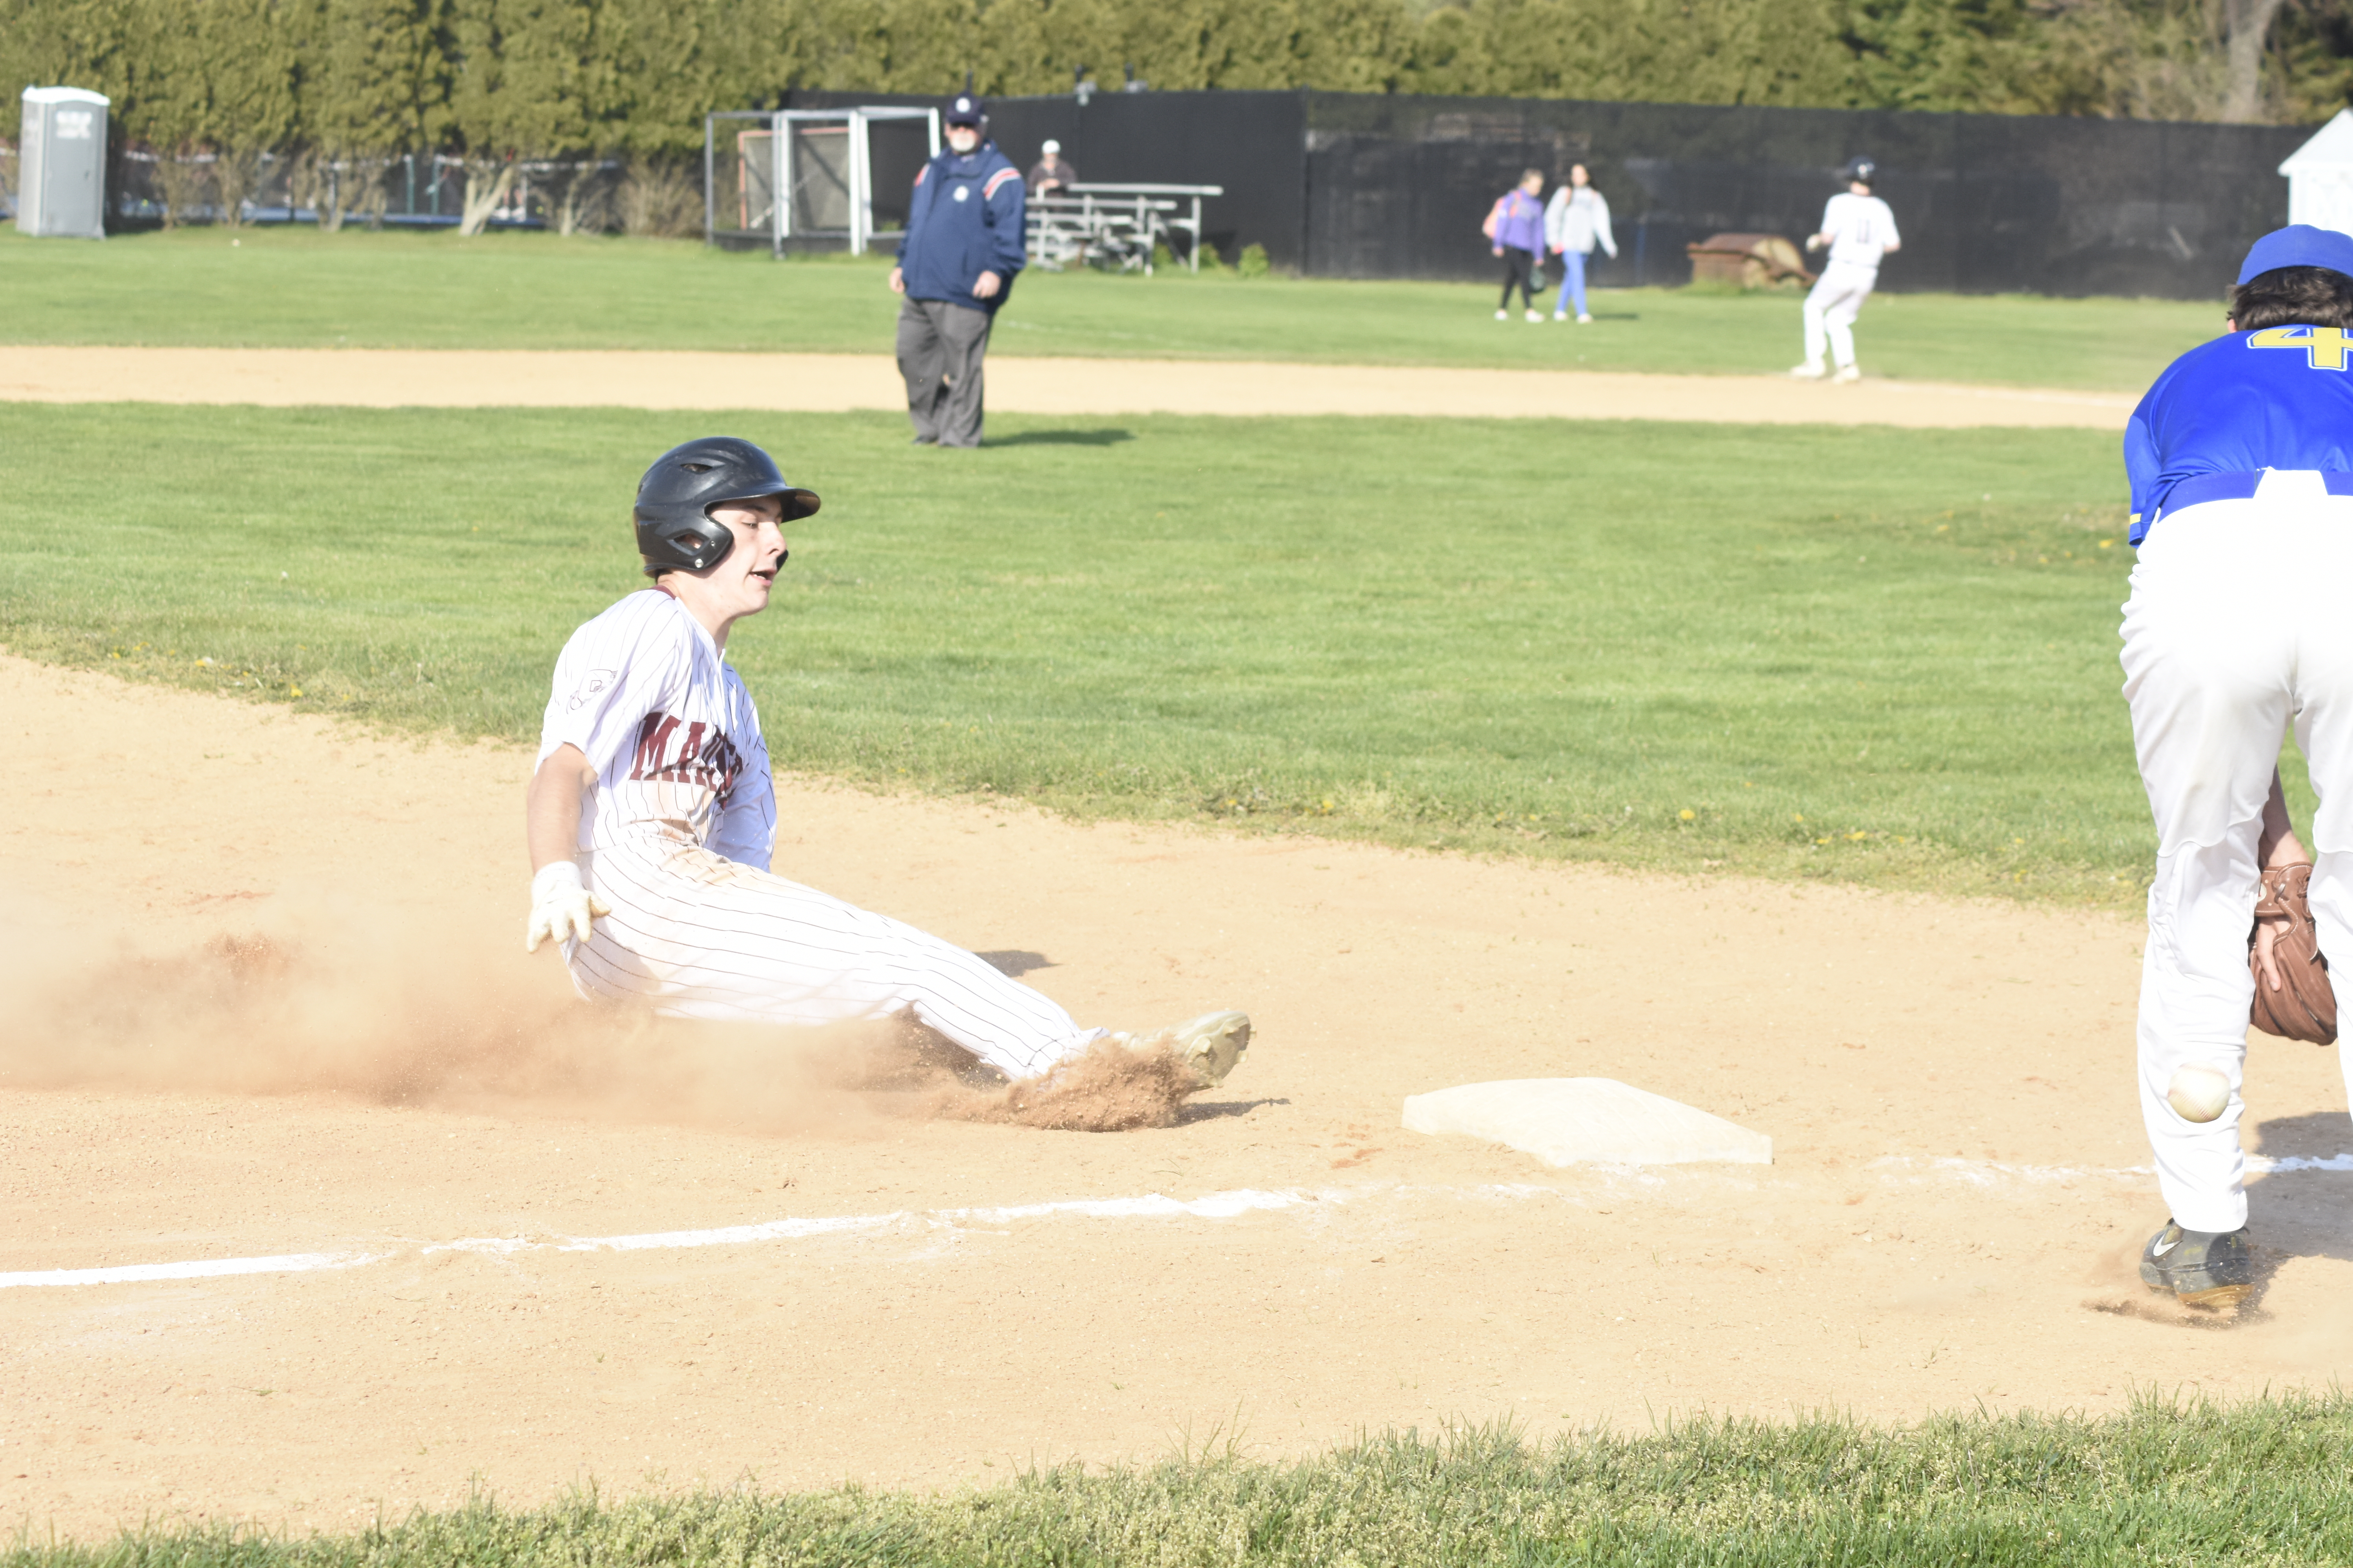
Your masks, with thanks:
[{"label": "white pinstriped jersey and pants of the sliding player", "polygon": [[911,1011],[1012,1079],[1106,1034],[962,947],[769,875],[776,790],[760,715],[668,592],[633,592],[572,632],[539,759],[565,743],[598,773],[579,865],[612,905],[586,943],[565,943],[584,997],[784,1025]]}]

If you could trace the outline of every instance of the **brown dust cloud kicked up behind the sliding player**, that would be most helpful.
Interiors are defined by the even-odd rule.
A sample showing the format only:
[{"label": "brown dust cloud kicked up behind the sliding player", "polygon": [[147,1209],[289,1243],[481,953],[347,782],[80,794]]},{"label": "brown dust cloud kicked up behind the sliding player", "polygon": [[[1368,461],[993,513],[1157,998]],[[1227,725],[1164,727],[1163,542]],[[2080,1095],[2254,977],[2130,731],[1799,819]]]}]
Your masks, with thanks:
[{"label": "brown dust cloud kicked up behind the sliding player", "polygon": [[786,1133],[941,1114],[972,1058],[896,1020],[704,1025],[581,1001],[541,952],[313,907],[144,950],[0,922],[0,1086],[348,1095],[376,1105]]}]

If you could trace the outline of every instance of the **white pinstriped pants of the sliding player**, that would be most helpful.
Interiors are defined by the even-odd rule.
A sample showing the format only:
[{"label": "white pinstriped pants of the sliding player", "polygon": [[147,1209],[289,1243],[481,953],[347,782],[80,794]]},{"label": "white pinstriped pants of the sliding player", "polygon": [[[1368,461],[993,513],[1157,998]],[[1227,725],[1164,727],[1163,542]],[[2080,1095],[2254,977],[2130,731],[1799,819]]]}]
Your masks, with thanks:
[{"label": "white pinstriped pants of the sliding player", "polygon": [[584,997],[722,1023],[913,1013],[1009,1079],[1106,1034],[953,943],[708,849],[581,853],[581,879],[612,905],[591,940],[565,945]]}]

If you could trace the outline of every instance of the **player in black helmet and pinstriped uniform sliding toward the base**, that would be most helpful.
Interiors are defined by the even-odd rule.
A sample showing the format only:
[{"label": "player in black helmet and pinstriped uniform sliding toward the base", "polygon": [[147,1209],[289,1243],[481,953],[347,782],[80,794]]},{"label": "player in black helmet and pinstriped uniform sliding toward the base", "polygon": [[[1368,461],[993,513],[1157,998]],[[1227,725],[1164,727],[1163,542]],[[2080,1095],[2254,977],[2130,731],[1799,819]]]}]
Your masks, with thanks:
[{"label": "player in black helmet and pinstriped uniform sliding toward the base", "polygon": [[671,1018],[828,1025],[899,1013],[1007,1079],[1047,1079],[1101,1039],[1169,1048],[1200,1088],[1249,1046],[1207,1013],[1113,1034],[979,957],[769,872],[776,792],[760,715],[725,663],[727,630],[767,609],[784,524],[812,491],[734,437],[661,454],[638,484],[654,585],[572,632],[555,661],[527,802],[525,947],[562,943],[584,997]]}]

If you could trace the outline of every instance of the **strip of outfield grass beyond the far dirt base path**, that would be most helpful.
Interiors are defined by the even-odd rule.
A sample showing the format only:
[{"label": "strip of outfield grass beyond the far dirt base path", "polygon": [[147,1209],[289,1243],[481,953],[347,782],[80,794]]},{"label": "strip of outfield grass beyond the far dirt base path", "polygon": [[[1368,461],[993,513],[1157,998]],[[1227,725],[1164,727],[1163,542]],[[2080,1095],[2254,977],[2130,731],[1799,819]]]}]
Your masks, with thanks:
[{"label": "strip of outfield grass beyond the far dirt base path", "polygon": [[[85,244],[0,226],[0,343],[889,353],[887,266],[539,233],[188,228]],[[1602,292],[1591,327],[1492,310],[1487,284],[1031,273],[993,353],[1694,374],[1800,355],[1788,294]],[[2219,303],[1880,294],[1859,341],[1878,376],[2139,393],[2219,329]]]}]

